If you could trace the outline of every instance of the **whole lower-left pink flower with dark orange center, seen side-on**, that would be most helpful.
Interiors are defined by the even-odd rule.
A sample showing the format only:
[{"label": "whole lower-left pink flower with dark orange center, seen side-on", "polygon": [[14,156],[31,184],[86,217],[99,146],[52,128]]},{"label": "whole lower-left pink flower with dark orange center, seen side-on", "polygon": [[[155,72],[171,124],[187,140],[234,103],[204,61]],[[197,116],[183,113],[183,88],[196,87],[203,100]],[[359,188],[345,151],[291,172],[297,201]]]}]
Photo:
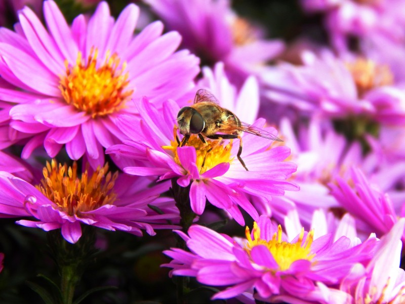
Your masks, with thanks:
[{"label": "whole lower-left pink flower with dark orange center, seen side-on", "polygon": [[[61,229],[62,236],[70,243],[82,236],[80,224],[137,236],[142,235],[141,230],[154,235],[153,229],[178,227],[167,224],[167,220],[179,218],[173,200],[170,204],[166,199],[155,201],[160,193],[167,191],[167,184],[146,188],[145,182],[138,178],[107,171],[105,165],[93,174],[85,171],[79,178],[75,164],[67,168],[52,161],[44,168],[44,179],[36,186],[0,172],[0,217],[32,216],[34,220],[21,219],[17,223],[45,231]],[[164,214],[157,214],[148,204]]]}]

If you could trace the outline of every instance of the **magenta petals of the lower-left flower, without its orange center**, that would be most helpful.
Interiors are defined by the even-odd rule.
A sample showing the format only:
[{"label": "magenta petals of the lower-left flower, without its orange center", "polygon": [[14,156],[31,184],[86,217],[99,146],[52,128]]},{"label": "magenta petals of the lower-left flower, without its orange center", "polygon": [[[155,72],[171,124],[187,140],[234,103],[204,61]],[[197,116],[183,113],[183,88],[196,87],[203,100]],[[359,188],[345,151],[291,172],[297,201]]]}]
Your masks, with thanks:
[{"label": "magenta petals of the lower-left flower, without its orange center", "polygon": [[[0,217],[33,217],[33,219],[20,219],[17,223],[38,227],[45,231],[61,229],[62,236],[70,243],[76,243],[82,236],[80,224],[111,231],[125,231],[137,236],[142,236],[142,230],[149,235],[155,235],[154,229],[178,227],[168,224],[168,220],[174,222],[179,220],[173,199],[158,199],[168,185],[161,183],[148,188],[150,182],[146,178],[141,180],[133,176],[118,176],[114,188],[111,189],[116,198],[110,201],[111,203],[84,210],[71,206],[68,210],[44,195],[35,185],[2,171],[0,172]],[[92,194],[98,195],[97,193],[88,195]],[[69,192],[60,192],[59,195],[61,201],[64,198],[68,200]],[[157,207],[163,211],[163,214],[149,208],[148,204]]]}]

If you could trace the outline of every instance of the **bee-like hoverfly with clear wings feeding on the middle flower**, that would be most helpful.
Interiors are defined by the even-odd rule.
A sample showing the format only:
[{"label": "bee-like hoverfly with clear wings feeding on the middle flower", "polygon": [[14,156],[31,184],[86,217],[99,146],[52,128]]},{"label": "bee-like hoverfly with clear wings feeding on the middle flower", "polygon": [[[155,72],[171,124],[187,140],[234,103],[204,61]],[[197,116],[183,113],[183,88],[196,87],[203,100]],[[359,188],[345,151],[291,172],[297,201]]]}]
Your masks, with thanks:
[{"label": "bee-like hoverfly with clear wings feeding on the middle flower", "polygon": [[[240,157],[242,153],[241,132],[282,141],[265,130],[242,123],[234,113],[221,107],[217,98],[205,89],[197,91],[191,106],[180,109],[177,114],[177,123],[180,134],[184,135],[181,142],[177,139],[179,146],[186,145],[191,134],[197,134],[204,144],[207,144],[205,138],[219,140],[219,143],[222,139],[239,139],[239,150],[236,157],[247,171],[249,170]],[[212,148],[207,153],[211,150]]]}]

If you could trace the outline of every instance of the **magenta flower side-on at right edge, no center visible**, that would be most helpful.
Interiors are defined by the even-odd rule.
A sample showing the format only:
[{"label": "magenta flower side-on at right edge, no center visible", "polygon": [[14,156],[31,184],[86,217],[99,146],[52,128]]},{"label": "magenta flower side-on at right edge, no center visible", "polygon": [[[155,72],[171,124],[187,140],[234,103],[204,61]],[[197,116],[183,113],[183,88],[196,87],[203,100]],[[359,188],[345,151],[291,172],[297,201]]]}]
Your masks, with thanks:
[{"label": "magenta flower side-on at right edge, no center visible", "polygon": [[[403,202],[394,206],[390,197],[358,168],[351,168],[350,177],[350,180],[345,180],[337,176],[336,184],[330,184],[331,194],[356,218],[360,231],[366,235],[374,232],[377,237],[385,235],[398,221],[398,215],[404,216]],[[404,240],[405,232],[402,232]]]}]

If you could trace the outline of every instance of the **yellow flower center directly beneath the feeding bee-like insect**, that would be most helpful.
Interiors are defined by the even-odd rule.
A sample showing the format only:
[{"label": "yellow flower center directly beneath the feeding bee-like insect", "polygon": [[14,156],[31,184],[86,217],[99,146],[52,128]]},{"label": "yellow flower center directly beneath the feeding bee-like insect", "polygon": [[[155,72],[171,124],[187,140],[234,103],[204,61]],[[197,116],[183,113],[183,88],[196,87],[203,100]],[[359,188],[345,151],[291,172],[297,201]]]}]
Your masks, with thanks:
[{"label": "yellow flower center directly beneath the feeding bee-like insect", "polygon": [[[211,168],[214,168],[218,164],[232,162],[232,140],[230,140],[227,144],[224,144],[220,140],[209,140],[207,138],[205,138],[205,140],[207,144],[204,144],[197,135],[192,134],[187,142],[188,146],[195,147],[195,151],[197,154],[196,165],[200,174],[203,174]],[[170,146],[163,146],[162,148],[171,150],[174,154],[175,162],[178,165],[182,166],[177,155],[177,140],[172,140],[170,144]]]}]

